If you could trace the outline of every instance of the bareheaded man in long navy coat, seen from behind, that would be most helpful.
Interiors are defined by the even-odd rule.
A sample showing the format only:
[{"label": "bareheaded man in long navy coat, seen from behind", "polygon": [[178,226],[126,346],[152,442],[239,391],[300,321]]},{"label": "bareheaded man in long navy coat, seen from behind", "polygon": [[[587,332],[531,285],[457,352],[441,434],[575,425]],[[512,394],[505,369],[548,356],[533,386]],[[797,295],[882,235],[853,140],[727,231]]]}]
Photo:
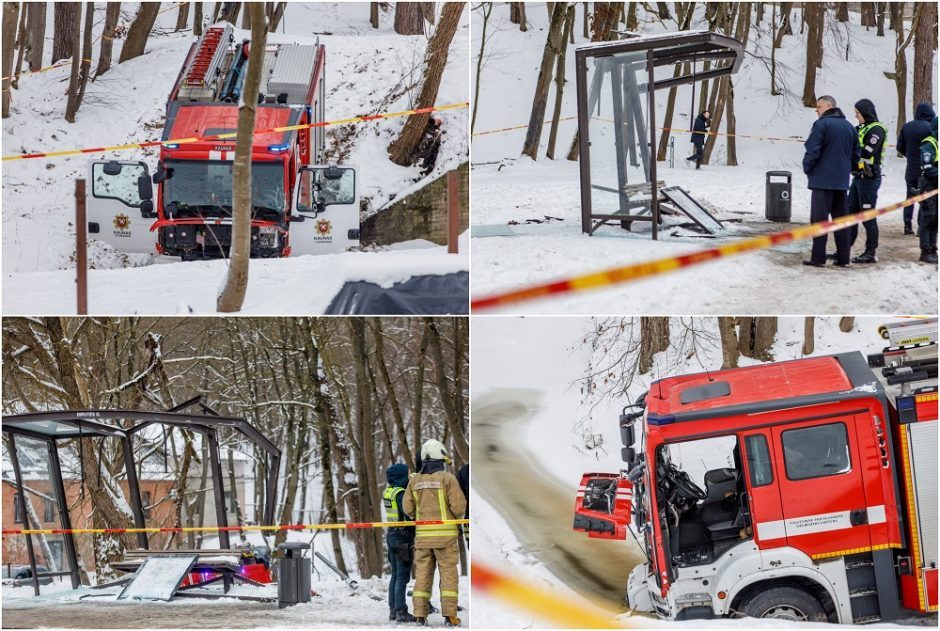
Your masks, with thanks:
[{"label": "bareheaded man in long navy coat, seen from behind", "polygon": [[[813,129],[806,139],[806,153],[803,155],[803,173],[812,191],[812,223],[848,214],[846,191],[849,188],[849,176],[861,158],[855,128],[845,119],[842,110],[836,107],[833,97],[826,95],[816,100],[816,115],[819,118],[813,123]],[[846,229],[838,230],[833,235],[836,242],[835,264],[839,267],[849,266],[849,237]],[[827,241],[828,235],[815,237],[812,254],[803,261],[803,265],[825,267]]]}]

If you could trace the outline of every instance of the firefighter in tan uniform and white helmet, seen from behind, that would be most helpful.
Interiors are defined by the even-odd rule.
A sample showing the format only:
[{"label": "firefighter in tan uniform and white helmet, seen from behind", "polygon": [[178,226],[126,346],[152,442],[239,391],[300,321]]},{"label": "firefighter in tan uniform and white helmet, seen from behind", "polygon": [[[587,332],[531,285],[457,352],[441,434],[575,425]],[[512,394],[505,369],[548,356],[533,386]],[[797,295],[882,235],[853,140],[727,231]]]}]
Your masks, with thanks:
[{"label": "firefighter in tan uniform and white helmet, seen from behind", "polygon": [[[459,519],[467,500],[452,473],[444,471],[450,459],[444,445],[429,440],[421,447],[421,470],[408,481],[404,511],[415,521]],[[447,626],[457,626],[457,526],[418,525],[415,528],[414,615],[418,624],[427,624],[434,568],[440,572],[441,610]]]}]

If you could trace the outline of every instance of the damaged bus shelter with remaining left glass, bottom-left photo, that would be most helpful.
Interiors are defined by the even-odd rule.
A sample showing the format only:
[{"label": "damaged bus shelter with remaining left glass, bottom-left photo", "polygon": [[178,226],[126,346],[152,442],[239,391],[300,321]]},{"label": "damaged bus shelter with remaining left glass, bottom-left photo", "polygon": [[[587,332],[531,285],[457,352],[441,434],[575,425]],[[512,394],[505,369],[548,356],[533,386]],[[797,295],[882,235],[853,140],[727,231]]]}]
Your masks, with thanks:
[{"label": "damaged bus shelter with remaining left glass, bottom-left photo", "polygon": [[[198,406],[201,414],[183,412],[185,408]],[[67,441],[82,439],[105,440],[108,438],[119,441],[124,459],[126,475],[127,503],[133,515],[134,528],[146,528],[145,512],[141,501],[141,491],[138,482],[138,463],[134,455],[134,440],[147,427],[164,425],[177,427],[201,434],[206,441],[209,454],[209,475],[215,504],[216,524],[219,527],[219,545],[224,552],[231,548],[229,539],[228,517],[225,505],[225,480],[222,473],[222,459],[219,449],[219,432],[223,429],[237,432],[251,444],[259,447],[266,455],[267,465],[264,469],[264,511],[261,516],[262,525],[274,523],[275,497],[277,494],[277,471],[281,461],[281,451],[266,436],[253,427],[243,418],[220,416],[210,407],[200,402],[199,398],[187,401],[167,412],[144,412],[139,410],[59,410],[53,412],[36,412],[31,414],[18,414],[4,416],[2,429],[9,451],[10,464],[15,476],[16,488],[19,491],[16,497],[16,510],[21,516],[25,530],[43,528],[41,524],[31,524],[27,512],[24,486],[24,476],[21,467],[21,450],[27,450],[30,457],[35,460],[36,454],[44,457],[41,473],[50,482],[51,506],[54,507],[54,521],[57,530],[53,537],[57,540],[56,547],[61,550],[61,562],[56,569],[48,567],[50,561],[44,559],[45,554],[37,554],[33,536],[24,534],[26,552],[29,557],[30,577],[33,590],[39,595],[39,586],[48,582],[54,576],[69,576],[72,588],[80,585],[78,555],[76,553],[75,536],[72,532],[72,520],[69,514],[65,478],[62,472],[62,462],[59,458],[59,449]],[[79,443],[81,444],[81,443]],[[99,465],[100,466],[100,465]],[[232,489],[234,492],[234,489]],[[141,565],[147,558],[149,542],[146,532],[135,533],[139,551],[132,556],[137,557],[137,565]],[[44,542],[49,545],[49,542]],[[173,551],[170,551],[173,552]],[[198,552],[198,551],[186,551]],[[156,554],[156,553],[154,553]],[[128,557],[129,558],[129,557]],[[44,561],[44,563],[40,563]],[[117,567],[117,566],[116,566]],[[125,568],[133,571],[135,568]],[[230,568],[221,568],[226,591],[232,580],[238,580],[235,573],[227,571]],[[248,581],[251,582],[251,581]]]}]

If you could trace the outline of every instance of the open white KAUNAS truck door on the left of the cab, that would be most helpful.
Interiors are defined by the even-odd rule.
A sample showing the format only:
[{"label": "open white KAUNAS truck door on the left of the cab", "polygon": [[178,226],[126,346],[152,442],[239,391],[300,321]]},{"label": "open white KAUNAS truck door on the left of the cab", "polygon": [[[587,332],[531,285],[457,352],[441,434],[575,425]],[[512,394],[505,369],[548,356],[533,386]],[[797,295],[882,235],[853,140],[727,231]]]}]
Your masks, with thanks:
[{"label": "open white KAUNAS truck door on the left of the cab", "polygon": [[88,176],[88,238],[104,241],[118,252],[154,254],[157,239],[150,231],[155,215],[147,165],[94,160]]}]

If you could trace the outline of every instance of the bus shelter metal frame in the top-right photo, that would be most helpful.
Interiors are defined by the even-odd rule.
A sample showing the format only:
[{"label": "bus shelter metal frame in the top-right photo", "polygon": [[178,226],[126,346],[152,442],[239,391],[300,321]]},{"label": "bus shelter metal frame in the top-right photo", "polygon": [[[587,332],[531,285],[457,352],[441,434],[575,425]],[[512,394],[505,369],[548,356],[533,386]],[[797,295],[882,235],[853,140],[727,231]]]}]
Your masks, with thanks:
[{"label": "bus shelter metal frame in the top-right photo", "polygon": [[[629,116],[624,120],[625,111],[630,108],[629,103],[624,102],[626,90],[622,80],[616,80],[623,75],[619,70],[627,66],[628,71],[632,71],[629,65],[634,65],[629,61],[617,62],[615,55],[618,53],[639,52],[645,53],[645,65],[647,73],[647,85],[645,86],[647,95],[648,126],[649,126],[649,146],[647,151],[642,151],[648,157],[647,178],[650,185],[650,212],[649,214],[631,214],[630,203],[627,199],[624,187],[626,185],[626,164],[625,148],[622,146],[621,134],[619,130],[627,125],[628,136],[634,125],[642,124],[642,114],[639,111],[629,112]],[[596,106],[600,99],[600,85],[592,85],[592,91],[597,90],[593,99],[588,93],[587,85],[587,61],[588,59],[609,58],[611,67],[611,92],[613,97],[614,129],[618,130],[614,134],[616,153],[617,153],[617,174],[618,190],[612,191],[618,193],[620,198],[620,210],[615,213],[594,213],[591,203],[591,138],[590,138],[590,119],[591,110]],[[717,68],[711,68],[703,72],[695,72],[695,63],[698,61],[711,60],[722,63]],[[575,50],[575,70],[576,70],[576,89],[578,97],[578,137],[579,137],[579,162],[581,175],[581,232],[591,235],[597,228],[609,221],[620,221],[622,225],[629,225],[632,221],[652,221],[653,239],[658,238],[658,226],[660,221],[659,210],[659,185],[656,180],[656,90],[662,88],[671,88],[687,83],[694,83],[699,79],[712,79],[724,75],[735,74],[744,61],[744,49],[738,40],[727,35],[713,33],[711,31],[688,31],[678,33],[663,33],[657,35],[634,36],[628,39],[613,42],[594,42],[583,44]],[[682,64],[688,63],[692,68],[691,73],[682,72]],[[670,66],[679,68],[678,76],[669,76],[668,78],[656,80],[655,69],[660,66]],[[630,72],[626,73],[631,74]],[[597,79],[599,82],[600,79]],[[635,81],[629,81],[634,88],[634,97],[638,96],[642,89],[636,88]],[[594,101],[594,102],[592,102]],[[639,106],[639,99],[634,98],[633,105]],[[610,190],[610,189],[604,189]],[[632,204],[633,206],[636,203]]]}]

